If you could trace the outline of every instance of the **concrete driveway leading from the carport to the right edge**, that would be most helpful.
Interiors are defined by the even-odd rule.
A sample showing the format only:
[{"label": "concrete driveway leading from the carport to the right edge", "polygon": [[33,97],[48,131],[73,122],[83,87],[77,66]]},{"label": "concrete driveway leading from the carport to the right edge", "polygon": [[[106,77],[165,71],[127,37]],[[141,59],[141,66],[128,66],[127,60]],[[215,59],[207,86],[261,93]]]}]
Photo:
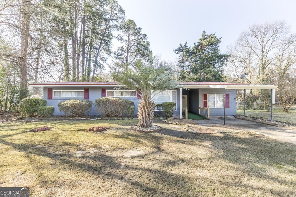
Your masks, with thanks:
[{"label": "concrete driveway leading from the carport to the right edge", "polygon": [[[223,116],[211,116],[210,120],[201,120],[195,122],[205,126],[223,124]],[[247,131],[259,132],[268,137],[296,144],[296,130],[284,129],[262,123],[255,123],[252,121],[245,121],[234,118],[234,116],[226,116],[226,125],[234,125]]]}]

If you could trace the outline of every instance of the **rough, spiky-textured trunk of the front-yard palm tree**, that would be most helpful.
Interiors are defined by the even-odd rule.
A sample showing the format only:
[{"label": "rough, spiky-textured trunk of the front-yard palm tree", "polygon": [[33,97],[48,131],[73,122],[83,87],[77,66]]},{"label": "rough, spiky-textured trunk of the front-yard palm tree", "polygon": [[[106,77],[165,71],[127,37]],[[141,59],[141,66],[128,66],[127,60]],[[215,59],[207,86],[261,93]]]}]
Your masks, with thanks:
[{"label": "rough, spiky-textured trunk of the front-yard palm tree", "polygon": [[151,100],[141,100],[138,104],[138,118],[140,127],[152,127],[154,121],[155,103]]}]

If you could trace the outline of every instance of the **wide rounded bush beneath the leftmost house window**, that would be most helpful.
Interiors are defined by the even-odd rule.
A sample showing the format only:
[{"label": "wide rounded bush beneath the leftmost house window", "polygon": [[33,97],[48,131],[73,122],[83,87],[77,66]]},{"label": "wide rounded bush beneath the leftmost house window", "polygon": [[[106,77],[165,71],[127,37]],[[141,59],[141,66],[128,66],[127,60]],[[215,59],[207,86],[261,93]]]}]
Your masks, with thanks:
[{"label": "wide rounded bush beneath the leftmost house window", "polygon": [[70,116],[83,116],[91,110],[92,101],[83,99],[70,99],[59,102],[57,105],[61,112]]}]

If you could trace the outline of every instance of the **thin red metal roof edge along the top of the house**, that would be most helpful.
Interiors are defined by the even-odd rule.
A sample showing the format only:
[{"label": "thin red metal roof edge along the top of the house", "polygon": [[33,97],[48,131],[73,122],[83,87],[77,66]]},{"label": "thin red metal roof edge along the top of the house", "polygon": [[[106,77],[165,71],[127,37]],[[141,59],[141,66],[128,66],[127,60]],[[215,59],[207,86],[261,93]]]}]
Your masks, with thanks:
[{"label": "thin red metal roof edge along the top of the house", "polygon": [[[248,85],[248,83],[229,83],[229,82],[177,82],[181,85]],[[117,82],[48,82],[29,85],[119,85]]]}]

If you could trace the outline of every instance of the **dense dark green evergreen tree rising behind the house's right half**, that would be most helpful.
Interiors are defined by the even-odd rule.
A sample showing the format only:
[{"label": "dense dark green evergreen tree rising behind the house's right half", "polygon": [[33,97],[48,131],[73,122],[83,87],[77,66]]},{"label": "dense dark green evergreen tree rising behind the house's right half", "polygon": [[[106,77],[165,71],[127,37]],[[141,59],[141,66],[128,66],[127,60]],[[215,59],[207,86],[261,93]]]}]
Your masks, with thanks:
[{"label": "dense dark green evergreen tree rising behind the house's right half", "polygon": [[179,54],[177,66],[181,68],[179,76],[183,81],[225,81],[223,76],[223,66],[228,61],[230,55],[223,54],[219,50],[221,38],[217,38],[215,33],[207,34],[202,32],[197,43],[188,47],[188,43],[174,50]]}]

